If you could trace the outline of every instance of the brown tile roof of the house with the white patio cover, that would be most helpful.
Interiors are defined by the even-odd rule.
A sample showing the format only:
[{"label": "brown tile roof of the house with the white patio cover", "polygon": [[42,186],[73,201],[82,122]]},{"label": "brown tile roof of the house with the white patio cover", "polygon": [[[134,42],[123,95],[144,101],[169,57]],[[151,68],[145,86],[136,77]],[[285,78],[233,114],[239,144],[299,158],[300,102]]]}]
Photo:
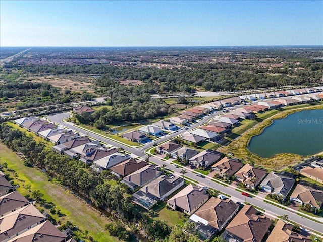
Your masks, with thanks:
[{"label": "brown tile roof of the house with the white patio cover", "polygon": [[208,221],[208,225],[219,230],[239,207],[230,199],[211,197],[194,214]]}]

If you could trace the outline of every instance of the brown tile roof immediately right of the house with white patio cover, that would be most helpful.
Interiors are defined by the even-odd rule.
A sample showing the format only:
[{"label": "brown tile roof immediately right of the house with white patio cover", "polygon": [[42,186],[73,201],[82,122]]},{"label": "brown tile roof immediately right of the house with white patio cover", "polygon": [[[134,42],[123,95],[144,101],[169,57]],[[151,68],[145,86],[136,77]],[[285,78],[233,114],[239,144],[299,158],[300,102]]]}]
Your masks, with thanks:
[{"label": "brown tile roof immediately right of the house with white patio cover", "polygon": [[261,242],[271,225],[271,220],[256,213],[257,210],[254,207],[245,205],[229,223],[226,231],[244,242]]}]

